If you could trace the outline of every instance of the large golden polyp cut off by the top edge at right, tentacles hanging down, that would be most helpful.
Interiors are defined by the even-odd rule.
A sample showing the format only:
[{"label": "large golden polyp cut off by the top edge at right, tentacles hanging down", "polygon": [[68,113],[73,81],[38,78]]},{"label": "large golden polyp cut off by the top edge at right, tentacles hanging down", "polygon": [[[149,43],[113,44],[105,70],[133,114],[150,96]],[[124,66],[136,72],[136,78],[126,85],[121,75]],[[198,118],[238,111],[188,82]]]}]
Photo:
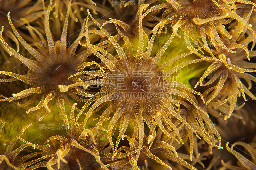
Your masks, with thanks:
[{"label": "large golden polyp cut off by the top edge at right, tentacles hanging down", "polygon": [[[246,27],[254,37],[256,37],[255,31],[252,29],[252,25],[247,24],[247,21],[240,17],[236,13],[236,2],[243,4],[251,4],[252,8],[256,7],[256,4],[251,1],[233,1],[233,0],[166,0],[167,2],[154,6],[150,11],[158,11],[165,9],[162,19],[166,19],[165,23],[171,23],[173,32],[177,33],[178,27],[184,31],[184,38],[189,49],[199,47],[199,43],[196,41],[194,35],[194,27],[196,26],[197,34],[202,38],[205,50],[213,57],[210,48],[209,41],[215,46],[218,44],[221,48],[232,51],[221,41],[219,34],[228,39],[232,38],[225,29],[226,24],[232,20],[236,20],[240,24],[239,31],[241,32]],[[145,13],[147,14],[147,13]],[[251,13],[249,13],[251,15]],[[181,20],[179,20],[181,18]],[[190,41],[190,38],[193,44]],[[194,47],[193,47],[194,46]]]}]

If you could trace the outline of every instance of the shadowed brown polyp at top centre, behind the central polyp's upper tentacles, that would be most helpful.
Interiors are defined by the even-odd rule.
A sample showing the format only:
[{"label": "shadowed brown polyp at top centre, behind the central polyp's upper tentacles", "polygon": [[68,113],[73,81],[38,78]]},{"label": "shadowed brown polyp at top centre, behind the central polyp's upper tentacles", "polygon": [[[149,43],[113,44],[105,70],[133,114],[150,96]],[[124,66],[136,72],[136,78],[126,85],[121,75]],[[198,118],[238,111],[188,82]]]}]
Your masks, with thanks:
[{"label": "shadowed brown polyp at top centre, behind the central polyp's upper tentacles", "polygon": [[[95,1],[95,5],[75,2],[77,6],[88,8],[93,11],[93,17],[115,37],[117,41],[123,41],[120,34],[116,31],[114,23],[120,30],[133,42],[132,38],[139,35],[139,6],[142,1]],[[143,3],[149,4],[150,7],[159,4],[152,0],[144,0]],[[86,11],[85,11],[86,12]],[[143,30],[146,34],[152,33],[152,29],[162,19],[157,16],[159,12],[151,12],[142,20]],[[104,23],[104,24],[103,24]],[[91,25],[91,24],[89,24]],[[166,26],[164,26],[165,29]],[[166,31],[166,30],[165,30]]]}]

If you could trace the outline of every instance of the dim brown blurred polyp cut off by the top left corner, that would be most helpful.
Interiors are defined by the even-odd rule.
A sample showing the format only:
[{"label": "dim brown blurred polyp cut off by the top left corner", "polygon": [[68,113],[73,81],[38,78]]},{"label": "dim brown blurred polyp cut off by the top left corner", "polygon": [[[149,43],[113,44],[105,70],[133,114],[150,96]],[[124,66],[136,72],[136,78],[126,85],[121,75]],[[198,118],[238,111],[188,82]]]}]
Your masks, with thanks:
[{"label": "dim brown blurred polyp cut off by the top left corner", "polygon": [[[17,29],[21,26],[24,26],[24,24],[31,23],[45,13],[43,1],[37,0],[35,3],[31,3],[31,1],[32,0],[15,0],[0,2],[0,25],[6,27],[3,33],[3,38],[8,44],[11,44],[10,40],[14,41],[15,45],[17,46],[15,47],[15,49],[17,48],[17,52],[20,49],[19,41],[12,33],[12,28],[9,26],[7,19],[7,13],[9,11],[12,12],[11,17],[12,20],[15,21],[13,24]],[[3,44],[0,44],[1,54],[4,56],[6,61],[9,62],[4,50],[9,53],[9,55],[12,54],[6,47],[3,46]]]}]

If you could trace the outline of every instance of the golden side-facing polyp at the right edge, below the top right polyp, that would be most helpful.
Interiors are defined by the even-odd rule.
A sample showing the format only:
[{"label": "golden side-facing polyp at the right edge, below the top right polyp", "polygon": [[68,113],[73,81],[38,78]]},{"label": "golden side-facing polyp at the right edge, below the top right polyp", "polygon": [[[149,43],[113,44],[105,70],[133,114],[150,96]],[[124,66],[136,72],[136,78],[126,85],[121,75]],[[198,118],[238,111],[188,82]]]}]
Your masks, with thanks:
[{"label": "golden side-facing polyp at the right edge, below the top right polyp", "polygon": [[[207,107],[218,107],[228,101],[226,106],[229,105],[230,109],[227,118],[234,111],[238,96],[242,95],[244,100],[247,101],[245,97],[245,94],[247,94],[250,98],[256,100],[255,96],[249,91],[252,87],[252,82],[256,82],[256,77],[253,73],[256,72],[256,64],[245,61],[246,59],[250,60],[250,57],[256,56],[255,51],[248,51],[247,49],[251,38],[249,36],[245,38],[244,33],[240,34],[239,27],[230,31],[230,34],[233,35],[231,39],[223,37],[222,41],[229,49],[233,49],[235,53],[228,52],[218,44],[215,44],[216,49],[212,49],[212,53],[217,59],[212,59],[211,56],[208,57],[209,60],[206,59],[212,64],[195,85],[195,88],[197,85],[210,85],[210,88],[203,93]],[[210,74],[213,75],[212,78],[203,84],[203,81]],[[240,79],[244,79],[248,87]],[[217,82],[216,80],[219,81]],[[211,87],[212,85],[215,86]]]}]

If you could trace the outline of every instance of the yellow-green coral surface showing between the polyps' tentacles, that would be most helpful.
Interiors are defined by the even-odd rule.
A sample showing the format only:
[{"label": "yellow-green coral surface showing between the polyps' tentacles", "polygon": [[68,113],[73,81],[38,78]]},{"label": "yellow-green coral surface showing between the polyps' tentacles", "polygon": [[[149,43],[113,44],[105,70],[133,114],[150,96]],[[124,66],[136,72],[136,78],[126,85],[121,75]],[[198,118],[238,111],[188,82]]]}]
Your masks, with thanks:
[{"label": "yellow-green coral surface showing between the polyps' tentacles", "polygon": [[[171,29],[168,27],[168,30],[171,30]],[[164,33],[156,34],[156,39],[154,41],[154,46],[152,49],[151,57],[154,57],[157,54],[157,52],[162,48],[164,43],[169,39],[171,34],[172,34],[172,31],[170,31],[167,34],[164,34]],[[186,45],[184,42],[185,41],[183,38],[179,38],[178,36],[175,36],[172,43],[167,48],[166,52],[164,53],[164,55],[162,56],[162,58],[158,64],[164,63],[165,61],[167,61],[168,59],[170,59],[174,56],[188,52],[189,50],[188,50],[188,48],[186,48]],[[136,51],[137,51],[137,47],[138,47],[138,38],[137,37],[134,37],[134,43],[135,43],[134,55],[136,55]],[[147,41],[144,39],[144,50],[146,50],[146,47],[147,47]],[[14,58],[14,56],[12,56],[12,57],[13,57],[12,60],[15,61],[16,59]],[[198,57],[196,55],[186,56],[186,57],[178,60],[177,62],[173,63],[172,65],[170,65],[167,69],[170,69],[173,66],[179,65],[180,63],[183,63],[184,61],[197,59],[197,58]],[[11,66],[8,66],[8,68],[6,68],[6,65],[4,65],[3,63],[1,65],[2,66],[1,66],[0,70],[6,71],[9,69],[9,67],[11,67]],[[12,63],[10,63],[10,65],[12,65]],[[18,65],[18,63],[16,63],[16,65],[13,65],[13,67],[16,67],[17,65]],[[171,77],[171,78],[175,78],[173,80],[185,83],[190,86],[189,80],[194,77],[200,77],[203,74],[203,72],[206,70],[207,66],[208,66],[207,62],[191,64],[191,65],[184,67],[180,71],[178,71],[177,74],[175,74],[176,77]],[[16,67],[13,70],[13,72],[24,72],[24,71],[22,71],[22,69],[25,69],[24,65],[20,65],[20,66]],[[23,73],[23,74],[25,74],[25,73]],[[14,84],[14,86],[12,86],[12,88],[6,88],[5,90],[10,91],[13,89],[13,91],[15,91],[15,92],[9,92],[12,94],[12,93],[17,93],[17,92],[20,92],[21,90],[24,90],[22,88],[29,87],[28,85],[24,85],[25,83],[22,83],[22,82],[18,82],[18,83],[20,86],[19,88],[17,87],[17,89],[15,89],[14,86],[16,84]],[[8,87],[8,85],[10,85],[10,84],[5,83],[4,87]],[[23,85],[24,85],[24,87],[23,87]],[[71,101],[73,103],[76,102],[75,100],[71,100]],[[28,130],[25,131],[25,133],[22,135],[22,138],[24,138],[28,141],[31,141],[33,143],[44,144],[45,140],[52,135],[66,136],[65,126],[62,127],[62,119],[59,114],[58,108],[55,105],[54,100],[53,100],[53,107],[51,109],[51,113],[48,116],[46,116],[42,121],[38,121],[39,117],[36,115],[36,112],[35,113],[31,112],[29,114],[25,113],[25,111],[28,110],[29,108],[36,106],[38,104],[38,102],[39,101],[35,101],[33,104],[31,104],[29,107],[26,107],[26,108],[22,108],[22,107],[18,106],[17,101],[1,102],[0,103],[1,119],[6,122],[4,129],[3,129],[2,136],[1,136],[1,141],[12,140],[13,137],[15,135],[17,135],[24,126],[31,124],[31,123],[33,123],[33,125],[28,127]],[[78,103],[78,105],[77,105],[78,108],[81,108],[83,106],[83,103],[79,103],[79,102],[77,102],[77,103]],[[94,114],[92,116],[92,118],[95,118],[95,117],[99,118],[100,114],[104,111],[104,109],[106,107],[107,107],[107,105],[104,106],[102,109],[100,109],[99,113]],[[66,112],[68,115],[68,119],[70,118],[69,117],[70,110],[71,110],[70,107],[66,104]],[[75,115],[76,114],[78,114],[78,113],[75,112]],[[43,114],[41,114],[41,116],[42,115]],[[83,119],[84,119],[84,115],[82,115],[79,118],[79,122],[82,122]],[[87,125],[87,127],[88,128],[93,127],[96,124],[96,122],[97,121],[91,122],[90,124]],[[108,128],[109,122],[110,121],[107,121],[103,124],[103,127],[105,129]],[[129,134],[132,132],[133,132],[133,127],[130,122],[128,129],[126,131],[126,134]],[[118,133],[119,133],[119,125],[117,126],[116,132],[113,136],[114,144],[115,144],[115,140],[118,136]],[[20,141],[20,143],[22,143],[22,142]]]}]

